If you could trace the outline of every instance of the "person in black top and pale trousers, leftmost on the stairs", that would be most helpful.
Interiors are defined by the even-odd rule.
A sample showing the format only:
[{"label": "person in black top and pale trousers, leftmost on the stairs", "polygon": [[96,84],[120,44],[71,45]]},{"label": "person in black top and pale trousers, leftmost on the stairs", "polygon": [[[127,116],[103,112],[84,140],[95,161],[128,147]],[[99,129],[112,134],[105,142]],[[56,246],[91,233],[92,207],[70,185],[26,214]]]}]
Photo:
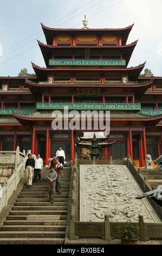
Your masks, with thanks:
[{"label": "person in black top and pale trousers, leftmost on the stairs", "polygon": [[31,187],[32,185],[34,167],[35,167],[35,161],[31,157],[31,154],[28,154],[28,159],[27,159],[27,162],[25,163],[25,169],[24,169],[24,172],[26,172],[26,176],[27,176],[27,187]]}]

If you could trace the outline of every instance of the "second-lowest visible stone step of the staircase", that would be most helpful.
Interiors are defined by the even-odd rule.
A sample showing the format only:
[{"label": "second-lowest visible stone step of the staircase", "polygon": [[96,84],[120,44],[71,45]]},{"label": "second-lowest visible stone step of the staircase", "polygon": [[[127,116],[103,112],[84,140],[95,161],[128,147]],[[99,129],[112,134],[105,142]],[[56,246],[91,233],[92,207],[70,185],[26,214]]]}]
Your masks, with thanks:
[{"label": "second-lowest visible stone step of the staircase", "polygon": [[0,237],[64,237],[65,231],[1,231]]}]

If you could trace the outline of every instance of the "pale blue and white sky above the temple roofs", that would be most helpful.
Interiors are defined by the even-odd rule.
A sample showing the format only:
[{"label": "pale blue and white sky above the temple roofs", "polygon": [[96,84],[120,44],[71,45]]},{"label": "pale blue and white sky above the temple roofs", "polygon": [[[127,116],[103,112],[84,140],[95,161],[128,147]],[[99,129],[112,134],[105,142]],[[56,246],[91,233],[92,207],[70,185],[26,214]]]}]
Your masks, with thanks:
[{"label": "pale blue and white sky above the temple roofs", "polygon": [[[0,15],[0,76],[34,74],[31,61],[46,66],[37,39],[46,44],[41,22],[53,28],[124,28],[134,23],[127,44],[139,40],[129,66],[162,76],[161,0],[5,0]],[[144,70],[142,71],[144,74]]]}]

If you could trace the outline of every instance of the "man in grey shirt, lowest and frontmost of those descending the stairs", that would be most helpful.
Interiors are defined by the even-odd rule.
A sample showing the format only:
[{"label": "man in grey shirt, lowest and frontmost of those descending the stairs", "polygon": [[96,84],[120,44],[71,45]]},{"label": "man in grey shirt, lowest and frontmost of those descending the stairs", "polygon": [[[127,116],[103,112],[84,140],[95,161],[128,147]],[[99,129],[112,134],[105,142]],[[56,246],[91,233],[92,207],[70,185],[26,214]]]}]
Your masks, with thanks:
[{"label": "man in grey shirt, lowest and frontmost of those descending the stairs", "polygon": [[56,188],[56,179],[57,179],[57,173],[54,170],[53,166],[50,166],[50,171],[47,173],[47,190],[49,193],[49,201],[51,204],[54,203],[54,195],[55,195],[55,188]]}]

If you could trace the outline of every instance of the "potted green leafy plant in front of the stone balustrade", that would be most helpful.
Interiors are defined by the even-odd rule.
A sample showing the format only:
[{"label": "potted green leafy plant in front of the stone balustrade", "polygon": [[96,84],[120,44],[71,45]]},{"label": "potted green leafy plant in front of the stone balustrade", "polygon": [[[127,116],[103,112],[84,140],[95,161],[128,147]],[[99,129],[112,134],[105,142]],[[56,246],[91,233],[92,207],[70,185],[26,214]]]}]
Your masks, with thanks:
[{"label": "potted green leafy plant in front of the stone balustrade", "polygon": [[138,225],[132,225],[130,221],[119,223],[116,227],[122,245],[138,245],[140,227]]}]

